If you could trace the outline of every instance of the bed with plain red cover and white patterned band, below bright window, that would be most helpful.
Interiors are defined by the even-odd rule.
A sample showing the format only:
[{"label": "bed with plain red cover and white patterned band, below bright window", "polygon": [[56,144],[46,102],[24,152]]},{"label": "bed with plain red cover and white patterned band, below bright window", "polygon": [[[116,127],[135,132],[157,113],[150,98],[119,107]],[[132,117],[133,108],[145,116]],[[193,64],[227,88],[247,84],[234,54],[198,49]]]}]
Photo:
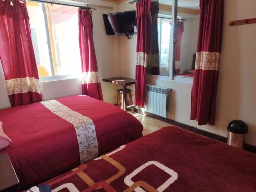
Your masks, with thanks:
[{"label": "bed with plain red cover and white patterned band, below bright window", "polygon": [[76,95],[0,110],[7,153],[22,187],[46,181],[142,136],[117,106]]}]

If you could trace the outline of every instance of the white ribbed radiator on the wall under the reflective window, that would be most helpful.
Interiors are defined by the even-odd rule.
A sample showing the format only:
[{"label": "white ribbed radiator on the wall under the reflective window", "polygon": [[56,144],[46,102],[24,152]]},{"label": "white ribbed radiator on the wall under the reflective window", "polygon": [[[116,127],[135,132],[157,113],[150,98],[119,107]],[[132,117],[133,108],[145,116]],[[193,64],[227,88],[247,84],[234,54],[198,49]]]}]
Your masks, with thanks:
[{"label": "white ribbed radiator on the wall under the reflective window", "polygon": [[146,85],[145,111],[166,117],[167,98],[171,89],[159,86]]}]

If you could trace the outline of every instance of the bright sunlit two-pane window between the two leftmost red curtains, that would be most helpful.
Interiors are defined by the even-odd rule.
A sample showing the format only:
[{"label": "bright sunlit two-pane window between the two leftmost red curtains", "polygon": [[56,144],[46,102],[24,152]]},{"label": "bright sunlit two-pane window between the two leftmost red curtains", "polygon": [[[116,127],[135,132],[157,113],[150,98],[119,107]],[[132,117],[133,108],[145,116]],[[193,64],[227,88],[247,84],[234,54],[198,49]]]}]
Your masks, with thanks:
[{"label": "bright sunlit two-pane window between the two leftmost red curtains", "polygon": [[79,74],[77,8],[27,2],[27,9],[40,77],[58,79]]}]

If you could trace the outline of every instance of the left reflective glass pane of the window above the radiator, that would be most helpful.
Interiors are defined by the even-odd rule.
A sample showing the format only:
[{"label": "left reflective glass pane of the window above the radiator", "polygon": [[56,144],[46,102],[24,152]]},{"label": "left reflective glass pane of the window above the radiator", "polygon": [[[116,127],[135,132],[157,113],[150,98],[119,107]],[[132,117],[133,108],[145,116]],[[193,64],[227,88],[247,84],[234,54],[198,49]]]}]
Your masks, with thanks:
[{"label": "left reflective glass pane of the window above the radiator", "polygon": [[[169,76],[172,1],[152,2],[151,41],[147,74]],[[162,8],[165,9],[162,9]],[[166,9],[167,7],[167,9]]]}]

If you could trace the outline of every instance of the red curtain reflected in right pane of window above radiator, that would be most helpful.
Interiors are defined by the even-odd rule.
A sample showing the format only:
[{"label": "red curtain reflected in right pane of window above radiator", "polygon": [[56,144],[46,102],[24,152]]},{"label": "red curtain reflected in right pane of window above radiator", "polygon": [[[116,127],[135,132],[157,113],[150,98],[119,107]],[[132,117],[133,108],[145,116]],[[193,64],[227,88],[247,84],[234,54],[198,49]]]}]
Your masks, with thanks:
[{"label": "red curtain reflected in right pane of window above radiator", "polygon": [[181,51],[181,40],[182,33],[184,31],[184,21],[177,20],[176,22],[176,44],[175,44],[175,75],[180,74],[180,51]]}]

